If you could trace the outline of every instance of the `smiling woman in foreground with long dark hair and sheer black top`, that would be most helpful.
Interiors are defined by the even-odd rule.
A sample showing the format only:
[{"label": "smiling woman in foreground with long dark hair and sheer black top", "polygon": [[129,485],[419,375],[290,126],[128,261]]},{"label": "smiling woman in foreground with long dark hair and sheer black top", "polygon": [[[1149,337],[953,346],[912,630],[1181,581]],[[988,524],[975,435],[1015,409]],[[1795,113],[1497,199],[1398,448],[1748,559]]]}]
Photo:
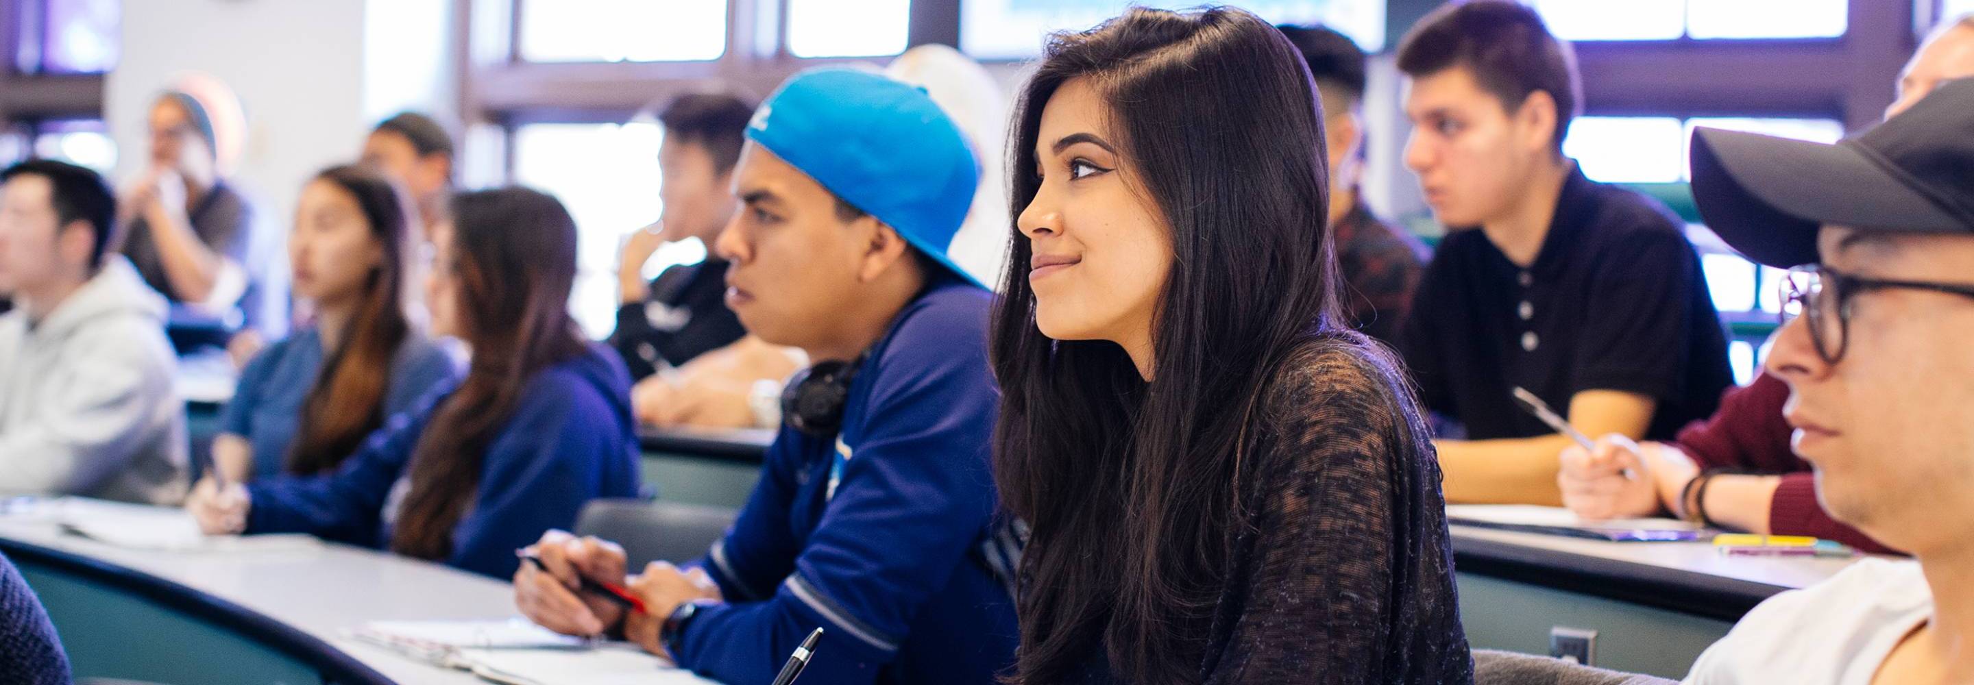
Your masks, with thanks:
[{"label": "smiling woman in foreground with long dark hair and sheer black top", "polygon": [[1058,34],[1015,120],[1015,683],[1467,683],[1439,470],[1336,312],[1321,107],[1242,10]]}]

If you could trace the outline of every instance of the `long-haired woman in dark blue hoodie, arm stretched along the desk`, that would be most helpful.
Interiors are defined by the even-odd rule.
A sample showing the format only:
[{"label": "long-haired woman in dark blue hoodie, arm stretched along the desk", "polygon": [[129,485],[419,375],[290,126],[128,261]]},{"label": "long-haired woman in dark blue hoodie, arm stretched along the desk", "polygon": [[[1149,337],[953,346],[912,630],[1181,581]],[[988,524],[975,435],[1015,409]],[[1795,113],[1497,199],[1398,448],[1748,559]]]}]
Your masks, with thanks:
[{"label": "long-haired woman in dark blue hoodie, arm stretched along the desk", "polygon": [[450,393],[393,419],[334,474],[193,488],[207,533],[314,533],[511,576],[513,551],[638,494],[624,361],[569,316],[576,225],[545,193],[454,199],[434,235],[432,330],[472,349]]}]

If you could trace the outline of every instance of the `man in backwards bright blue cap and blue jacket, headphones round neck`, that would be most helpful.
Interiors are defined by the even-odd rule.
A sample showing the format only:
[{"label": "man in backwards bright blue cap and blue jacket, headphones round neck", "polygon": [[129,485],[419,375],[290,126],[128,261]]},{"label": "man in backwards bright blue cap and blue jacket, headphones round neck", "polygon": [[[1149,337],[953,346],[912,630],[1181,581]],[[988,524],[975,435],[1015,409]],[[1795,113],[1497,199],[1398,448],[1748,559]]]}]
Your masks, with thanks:
[{"label": "man in backwards bright blue cap and blue jacket, headphones round neck", "polygon": [[549,533],[521,610],[622,632],[728,683],[766,683],[813,630],[817,683],[993,683],[1017,630],[995,525],[989,292],[946,257],[979,170],[924,91],[805,71],[764,103],[713,249],[748,332],[817,365],[784,393],[762,480],[711,553],[630,580],[649,614],[578,596],[624,580],[612,543]]}]

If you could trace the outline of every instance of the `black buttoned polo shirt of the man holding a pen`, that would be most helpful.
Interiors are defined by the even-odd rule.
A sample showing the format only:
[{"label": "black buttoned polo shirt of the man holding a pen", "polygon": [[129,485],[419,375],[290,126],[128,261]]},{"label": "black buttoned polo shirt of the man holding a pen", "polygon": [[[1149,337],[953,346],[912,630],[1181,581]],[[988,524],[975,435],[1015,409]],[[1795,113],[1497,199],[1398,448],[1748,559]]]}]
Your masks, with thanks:
[{"label": "black buttoned polo shirt of the man holding a pen", "polygon": [[1471,440],[1556,432],[1514,405],[1516,385],[1565,415],[1579,391],[1652,397],[1654,440],[1713,415],[1733,371],[1682,225],[1650,197],[1571,172],[1528,268],[1479,229],[1449,231],[1400,334],[1419,399]]}]

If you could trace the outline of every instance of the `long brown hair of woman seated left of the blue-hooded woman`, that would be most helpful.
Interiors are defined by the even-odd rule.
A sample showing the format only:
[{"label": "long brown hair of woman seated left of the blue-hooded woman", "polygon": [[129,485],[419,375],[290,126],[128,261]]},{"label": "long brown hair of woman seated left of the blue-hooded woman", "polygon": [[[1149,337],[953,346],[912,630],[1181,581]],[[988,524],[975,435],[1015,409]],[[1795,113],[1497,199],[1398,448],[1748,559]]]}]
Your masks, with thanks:
[{"label": "long brown hair of woman seated left of the blue-hooded woman", "polygon": [[357,452],[363,438],[383,426],[391,361],[411,336],[403,298],[411,280],[411,199],[387,176],[361,166],[332,166],[316,174],[314,182],[332,184],[357,201],[371,239],[383,245],[383,265],[363,284],[357,310],[343,324],[342,343],[328,349],[316,385],[302,403],[302,422],[288,446],[286,464],[286,472],[298,476],[336,470]]}]

